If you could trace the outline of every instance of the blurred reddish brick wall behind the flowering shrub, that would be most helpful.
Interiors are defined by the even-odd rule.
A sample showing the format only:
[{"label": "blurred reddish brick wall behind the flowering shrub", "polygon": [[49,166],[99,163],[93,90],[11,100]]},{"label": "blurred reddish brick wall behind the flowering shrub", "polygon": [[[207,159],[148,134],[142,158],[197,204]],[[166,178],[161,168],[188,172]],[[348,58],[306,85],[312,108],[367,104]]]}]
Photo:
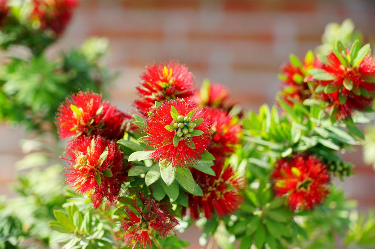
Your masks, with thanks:
[{"label": "blurred reddish brick wall behind the flowering shrub", "polygon": [[[90,36],[107,37],[108,64],[119,73],[110,96],[123,111],[129,110],[144,66],[170,59],[189,67],[197,87],[207,77],[227,86],[245,109],[257,111],[275,103],[276,75],[289,53],[304,56],[321,44],[326,24],[346,18],[371,38],[374,13],[373,0],[81,0],[48,55],[80,46]],[[14,163],[23,157],[18,141],[24,136],[21,128],[0,124],[0,195],[12,195],[7,186],[16,175]],[[356,175],[342,184],[345,192],[359,201],[359,209],[374,207],[375,173],[363,163],[362,149],[344,158],[356,165]]]}]

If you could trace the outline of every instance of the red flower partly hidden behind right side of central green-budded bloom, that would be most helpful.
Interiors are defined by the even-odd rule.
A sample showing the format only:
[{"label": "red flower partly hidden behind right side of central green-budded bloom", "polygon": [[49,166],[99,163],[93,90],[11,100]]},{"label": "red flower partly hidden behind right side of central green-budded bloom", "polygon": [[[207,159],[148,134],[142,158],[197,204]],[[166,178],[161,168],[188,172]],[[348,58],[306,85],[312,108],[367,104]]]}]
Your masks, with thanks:
[{"label": "red flower partly hidden behind right side of central green-budded bloom", "polygon": [[217,159],[234,153],[242,132],[241,124],[233,120],[226,111],[217,108],[205,108],[205,116],[211,118],[212,143],[208,151]]}]

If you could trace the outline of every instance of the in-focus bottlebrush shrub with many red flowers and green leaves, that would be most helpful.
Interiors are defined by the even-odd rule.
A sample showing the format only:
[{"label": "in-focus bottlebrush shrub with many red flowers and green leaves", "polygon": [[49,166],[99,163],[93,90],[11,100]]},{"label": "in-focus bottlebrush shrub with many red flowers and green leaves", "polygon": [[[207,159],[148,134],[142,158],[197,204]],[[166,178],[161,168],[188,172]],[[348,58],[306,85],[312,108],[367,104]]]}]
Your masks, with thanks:
[{"label": "in-focus bottlebrush shrub with many red flowers and green leaves", "polygon": [[[309,51],[304,62],[291,55],[278,104],[258,114],[227,108],[217,83],[194,90],[176,61],[145,68],[133,113],[90,91],[72,93],[56,124],[71,137],[65,178],[81,197],[72,193],[66,213],[55,211],[50,227],[66,234],[55,241],[178,249],[187,243],[175,232],[196,222],[202,245],[211,237],[209,245],[228,249],[334,248],[353,206],[332,178],[352,175],[339,152],[364,138],[356,124],[371,111],[374,71],[369,45],[358,41]],[[360,230],[345,243],[369,245]]]}]

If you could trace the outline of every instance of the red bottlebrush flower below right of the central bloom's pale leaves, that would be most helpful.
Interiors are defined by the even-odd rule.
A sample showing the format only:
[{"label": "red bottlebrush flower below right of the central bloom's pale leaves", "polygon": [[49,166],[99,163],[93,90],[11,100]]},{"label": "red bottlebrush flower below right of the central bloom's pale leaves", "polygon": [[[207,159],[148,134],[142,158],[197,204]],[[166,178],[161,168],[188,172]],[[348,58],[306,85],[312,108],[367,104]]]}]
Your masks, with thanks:
[{"label": "red bottlebrush flower below right of the central bloom's pale leaves", "polygon": [[203,196],[187,193],[190,217],[199,218],[199,211],[210,219],[215,210],[220,218],[239,209],[243,196],[239,190],[245,187],[245,179],[235,175],[231,166],[224,167],[224,160],[215,160],[212,169],[215,176],[207,175],[195,168],[190,171],[195,182],[202,188]]}]

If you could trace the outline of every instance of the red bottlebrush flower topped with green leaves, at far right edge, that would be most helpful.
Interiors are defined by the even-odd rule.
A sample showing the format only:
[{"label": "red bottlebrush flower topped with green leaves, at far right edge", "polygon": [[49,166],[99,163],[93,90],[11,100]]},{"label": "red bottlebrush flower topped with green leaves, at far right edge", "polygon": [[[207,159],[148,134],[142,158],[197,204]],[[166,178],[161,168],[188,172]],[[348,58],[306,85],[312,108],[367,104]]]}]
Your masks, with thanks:
[{"label": "red bottlebrush flower topped with green leaves, at far right edge", "polygon": [[375,96],[375,59],[370,56],[369,46],[362,48],[362,59],[341,47],[336,49],[346,53],[348,62],[337,52],[331,52],[321,58],[320,67],[311,70],[310,77],[317,84],[316,98],[328,102],[330,111],[337,111],[337,120],[347,119],[355,110],[371,107]]}]

